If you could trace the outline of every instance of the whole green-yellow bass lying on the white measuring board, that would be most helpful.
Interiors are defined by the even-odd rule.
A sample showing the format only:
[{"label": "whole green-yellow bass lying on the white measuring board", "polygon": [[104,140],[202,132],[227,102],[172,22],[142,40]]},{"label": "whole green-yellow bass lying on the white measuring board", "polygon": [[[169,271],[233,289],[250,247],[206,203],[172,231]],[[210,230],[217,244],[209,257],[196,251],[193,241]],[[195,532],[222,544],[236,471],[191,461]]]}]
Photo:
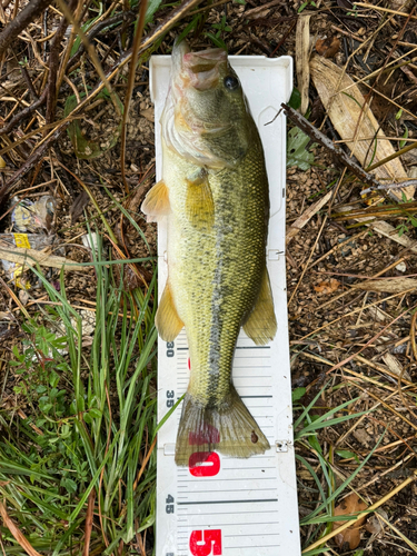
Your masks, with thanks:
[{"label": "whole green-yellow bass lying on the white measuring board", "polygon": [[[168,279],[156,314],[160,337],[185,327],[190,380],[176,463],[218,451],[248,458],[269,441],[236,391],[241,327],[256,345],[277,330],[266,264],[269,190],[261,140],[224,49],[176,42],[160,119],[162,179],[141,210],[167,218]],[[197,456],[198,458],[199,456]]]}]

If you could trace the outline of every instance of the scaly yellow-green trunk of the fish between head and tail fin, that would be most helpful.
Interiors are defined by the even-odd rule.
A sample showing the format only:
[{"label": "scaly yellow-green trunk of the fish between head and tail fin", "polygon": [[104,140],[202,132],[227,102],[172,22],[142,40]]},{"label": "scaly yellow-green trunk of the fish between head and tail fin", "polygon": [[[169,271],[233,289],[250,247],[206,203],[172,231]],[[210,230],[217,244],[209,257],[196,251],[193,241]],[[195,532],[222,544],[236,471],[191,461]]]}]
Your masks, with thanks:
[{"label": "scaly yellow-green trunk of the fish between head and tail fin", "polygon": [[186,215],[182,183],[198,168],[170,151],[165,166],[172,207],[169,284],[188,330],[189,391],[203,404],[221,400],[229,389],[237,337],[259,292],[266,264],[268,181],[254,131],[254,143],[238,168],[209,171],[215,205],[211,229],[196,234]]}]

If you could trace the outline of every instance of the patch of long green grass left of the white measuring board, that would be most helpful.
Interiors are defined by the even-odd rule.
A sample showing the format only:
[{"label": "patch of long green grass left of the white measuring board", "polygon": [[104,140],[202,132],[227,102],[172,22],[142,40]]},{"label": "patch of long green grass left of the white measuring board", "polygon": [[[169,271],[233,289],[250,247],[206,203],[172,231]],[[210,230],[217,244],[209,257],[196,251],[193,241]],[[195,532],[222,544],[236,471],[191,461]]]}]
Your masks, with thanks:
[{"label": "patch of long green grass left of the white measuring board", "polygon": [[[63,276],[57,291],[36,270],[53,305],[24,321],[13,350],[27,418],[16,408],[0,413],[0,499],[32,547],[52,556],[82,554],[89,498],[88,554],[129,554],[136,534],[155,522],[156,450],[139,480],[138,471],[157,431],[157,272],[146,292],[127,294],[115,265],[100,255],[95,262],[90,348],[82,347],[82,320]],[[27,554],[7,527],[0,530],[7,554]]]}]

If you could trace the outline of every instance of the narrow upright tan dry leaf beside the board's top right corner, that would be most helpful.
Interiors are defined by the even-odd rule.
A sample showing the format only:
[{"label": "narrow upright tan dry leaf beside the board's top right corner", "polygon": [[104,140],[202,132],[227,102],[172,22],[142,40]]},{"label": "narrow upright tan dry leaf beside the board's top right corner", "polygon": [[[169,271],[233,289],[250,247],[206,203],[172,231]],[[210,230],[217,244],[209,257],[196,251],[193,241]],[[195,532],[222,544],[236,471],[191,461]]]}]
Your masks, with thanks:
[{"label": "narrow upright tan dry leaf beside the board's top right corner", "polygon": [[308,64],[310,50],[310,16],[299,16],[296,29],[296,69],[297,86],[301,96],[298,111],[306,113],[308,109],[308,90],[310,87],[310,67]]}]

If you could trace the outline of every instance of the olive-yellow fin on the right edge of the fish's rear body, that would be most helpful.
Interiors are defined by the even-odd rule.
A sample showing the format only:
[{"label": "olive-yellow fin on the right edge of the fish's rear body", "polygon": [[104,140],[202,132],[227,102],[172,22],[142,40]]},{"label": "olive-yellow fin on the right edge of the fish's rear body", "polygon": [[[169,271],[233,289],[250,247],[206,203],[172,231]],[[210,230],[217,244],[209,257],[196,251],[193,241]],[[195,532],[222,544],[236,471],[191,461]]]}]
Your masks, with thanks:
[{"label": "olive-yellow fin on the right edge of the fish's rear body", "polygon": [[274,299],[269,284],[268,270],[265,267],[258,299],[244,325],[245,332],[257,345],[268,344],[277,331],[277,319],[274,312]]}]

